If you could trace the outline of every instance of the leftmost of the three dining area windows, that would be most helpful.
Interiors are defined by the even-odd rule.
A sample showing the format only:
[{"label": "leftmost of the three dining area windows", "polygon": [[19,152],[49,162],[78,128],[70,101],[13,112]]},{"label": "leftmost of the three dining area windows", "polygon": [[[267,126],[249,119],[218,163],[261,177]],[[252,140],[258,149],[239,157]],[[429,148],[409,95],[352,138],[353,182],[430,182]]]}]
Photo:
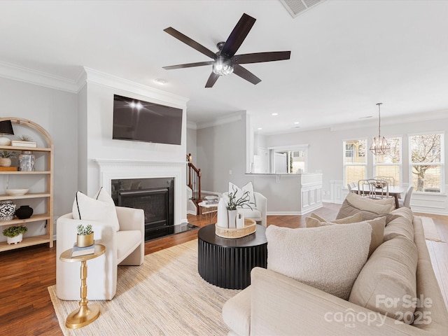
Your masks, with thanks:
[{"label": "leftmost of the three dining area windows", "polygon": [[344,186],[365,179],[367,139],[344,141]]}]

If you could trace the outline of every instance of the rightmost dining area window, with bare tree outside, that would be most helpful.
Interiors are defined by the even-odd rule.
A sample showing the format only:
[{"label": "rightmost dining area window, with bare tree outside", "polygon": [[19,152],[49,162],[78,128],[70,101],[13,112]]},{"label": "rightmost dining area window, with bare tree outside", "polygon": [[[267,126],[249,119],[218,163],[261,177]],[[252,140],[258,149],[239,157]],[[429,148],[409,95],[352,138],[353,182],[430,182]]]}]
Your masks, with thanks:
[{"label": "rightmost dining area window, with bare tree outside", "polygon": [[409,181],[421,193],[441,193],[444,172],[444,134],[409,136]]}]

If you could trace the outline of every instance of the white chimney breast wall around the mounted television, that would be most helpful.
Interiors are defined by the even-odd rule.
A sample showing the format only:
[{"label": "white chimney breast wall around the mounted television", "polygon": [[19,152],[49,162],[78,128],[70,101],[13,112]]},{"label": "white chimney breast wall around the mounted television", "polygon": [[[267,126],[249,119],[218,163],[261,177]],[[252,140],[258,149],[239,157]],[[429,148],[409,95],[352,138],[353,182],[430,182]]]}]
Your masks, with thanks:
[{"label": "white chimney breast wall around the mounted television", "polygon": [[[86,104],[80,106],[79,150],[85,158],[79,168],[87,172],[87,178],[80,179],[79,190],[94,195],[102,186],[100,167],[95,160],[134,160],[147,162],[179,162],[186,163],[186,102],[188,99],[146,87],[129,80],[85,69],[87,85],[85,88]],[[81,92],[84,101],[84,92]],[[183,109],[181,145],[153,144],[140,141],[112,139],[113,128],[113,94],[141,99],[146,102],[173,106]],[[86,155],[84,154],[86,148]],[[130,174],[131,176],[131,174]],[[143,176],[141,176],[143,177]],[[172,176],[166,176],[172,177]],[[180,214],[175,214],[175,224],[186,221],[186,169],[176,181],[175,193],[181,193]],[[110,186],[104,186],[110,188]],[[179,189],[178,189],[179,188]],[[175,207],[176,204],[175,204]],[[177,209],[177,208],[176,208]]]}]

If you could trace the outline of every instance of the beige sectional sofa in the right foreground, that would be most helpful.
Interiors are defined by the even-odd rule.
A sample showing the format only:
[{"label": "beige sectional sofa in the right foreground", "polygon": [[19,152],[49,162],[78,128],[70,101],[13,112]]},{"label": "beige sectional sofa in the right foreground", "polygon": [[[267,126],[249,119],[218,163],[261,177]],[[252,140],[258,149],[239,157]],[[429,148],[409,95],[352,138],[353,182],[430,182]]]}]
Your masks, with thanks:
[{"label": "beige sectional sofa in the right foreground", "polygon": [[223,307],[229,335],[448,335],[421,218],[407,208],[376,214],[353,204],[346,200],[338,218],[356,212],[363,219],[385,216],[386,227],[349,300],[269,269],[268,239],[268,269],[254,268],[251,286]]}]

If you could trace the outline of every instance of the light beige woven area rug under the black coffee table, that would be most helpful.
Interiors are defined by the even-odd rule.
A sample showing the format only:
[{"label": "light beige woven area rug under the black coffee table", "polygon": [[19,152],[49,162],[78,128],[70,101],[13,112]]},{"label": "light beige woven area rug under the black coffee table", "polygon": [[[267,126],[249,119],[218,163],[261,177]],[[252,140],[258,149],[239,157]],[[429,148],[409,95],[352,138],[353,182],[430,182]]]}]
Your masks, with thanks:
[{"label": "light beige woven area rug under the black coffee table", "polygon": [[211,285],[198,274],[197,239],[146,255],[141,266],[118,267],[116,297],[90,301],[99,305],[100,315],[83,328],[65,326],[78,302],[59,300],[55,285],[48,291],[66,336],[227,335],[223,304],[239,292]]}]

